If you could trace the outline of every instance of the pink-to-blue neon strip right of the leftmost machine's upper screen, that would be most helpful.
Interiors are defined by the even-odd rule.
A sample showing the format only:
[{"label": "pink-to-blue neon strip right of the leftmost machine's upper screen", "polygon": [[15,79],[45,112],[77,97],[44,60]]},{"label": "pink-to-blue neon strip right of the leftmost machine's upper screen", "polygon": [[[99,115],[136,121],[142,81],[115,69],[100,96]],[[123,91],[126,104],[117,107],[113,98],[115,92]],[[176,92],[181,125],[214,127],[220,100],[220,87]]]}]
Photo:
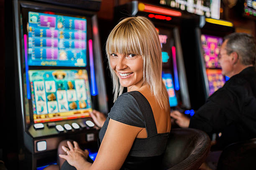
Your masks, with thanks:
[{"label": "pink-to-blue neon strip right of the leftmost machine's upper screen", "polygon": [[95,82],[94,62],[93,62],[93,48],[92,40],[88,40],[89,45],[89,58],[90,58],[90,73],[91,73],[91,94],[93,96],[98,94],[97,85]]}]

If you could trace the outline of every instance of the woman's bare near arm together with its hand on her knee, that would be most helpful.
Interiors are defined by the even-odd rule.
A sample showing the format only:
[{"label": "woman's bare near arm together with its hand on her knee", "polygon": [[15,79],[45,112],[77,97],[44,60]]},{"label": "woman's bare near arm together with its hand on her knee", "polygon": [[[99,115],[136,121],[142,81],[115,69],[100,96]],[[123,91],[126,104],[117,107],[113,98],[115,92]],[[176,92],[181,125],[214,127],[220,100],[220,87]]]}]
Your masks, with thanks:
[{"label": "woman's bare near arm together with its hand on her knee", "polygon": [[110,119],[93,164],[87,162],[88,155],[86,153],[76,149],[76,146],[73,149],[70,144],[68,149],[70,151],[67,151],[67,155],[60,157],[66,159],[77,170],[119,170],[130,152],[136,136],[142,129]]}]

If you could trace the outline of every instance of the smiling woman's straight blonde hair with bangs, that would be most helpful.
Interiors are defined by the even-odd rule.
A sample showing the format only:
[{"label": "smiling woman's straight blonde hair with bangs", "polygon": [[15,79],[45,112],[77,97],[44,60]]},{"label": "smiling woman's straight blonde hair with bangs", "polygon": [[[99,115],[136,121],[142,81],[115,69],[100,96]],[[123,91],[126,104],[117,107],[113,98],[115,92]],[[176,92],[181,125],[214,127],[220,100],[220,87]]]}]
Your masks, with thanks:
[{"label": "smiling woman's straight blonde hair with bangs", "polygon": [[[159,36],[153,23],[145,17],[125,18],[110,32],[106,42],[106,52],[110,67],[112,53],[136,54],[143,59],[143,84],[149,85],[160,107],[169,110],[169,99],[162,81],[162,55]],[[123,92],[118,76],[110,67],[113,79],[114,102]]]}]

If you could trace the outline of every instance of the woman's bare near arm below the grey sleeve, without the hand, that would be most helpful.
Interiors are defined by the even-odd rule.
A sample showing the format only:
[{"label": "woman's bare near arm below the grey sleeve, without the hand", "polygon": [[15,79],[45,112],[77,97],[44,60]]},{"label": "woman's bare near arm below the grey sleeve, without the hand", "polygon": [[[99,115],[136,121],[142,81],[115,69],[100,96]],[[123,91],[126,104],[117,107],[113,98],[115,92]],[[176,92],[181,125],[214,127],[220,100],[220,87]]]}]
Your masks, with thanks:
[{"label": "woman's bare near arm below the grey sleeve, without the hand", "polygon": [[119,170],[143,128],[110,119],[92,169]]}]

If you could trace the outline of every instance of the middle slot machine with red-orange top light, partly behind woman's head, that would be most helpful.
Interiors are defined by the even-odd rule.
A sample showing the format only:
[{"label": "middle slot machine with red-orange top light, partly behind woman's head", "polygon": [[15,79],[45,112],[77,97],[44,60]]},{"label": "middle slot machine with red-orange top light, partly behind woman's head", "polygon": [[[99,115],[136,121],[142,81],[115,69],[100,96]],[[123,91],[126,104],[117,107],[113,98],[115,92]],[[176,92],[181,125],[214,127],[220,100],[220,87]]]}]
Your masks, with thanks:
[{"label": "middle slot machine with red-orange top light, partly behind woman's head", "polygon": [[[173,109],[190,109],[189,93],[179,37],[179,25],[188,15],[161,5],[131,1],[115,7],[115,21],[129,16],[145,16],[156,26],[162,48],[162,78]],[[184,15],[184,16],[183,16]]]}]

